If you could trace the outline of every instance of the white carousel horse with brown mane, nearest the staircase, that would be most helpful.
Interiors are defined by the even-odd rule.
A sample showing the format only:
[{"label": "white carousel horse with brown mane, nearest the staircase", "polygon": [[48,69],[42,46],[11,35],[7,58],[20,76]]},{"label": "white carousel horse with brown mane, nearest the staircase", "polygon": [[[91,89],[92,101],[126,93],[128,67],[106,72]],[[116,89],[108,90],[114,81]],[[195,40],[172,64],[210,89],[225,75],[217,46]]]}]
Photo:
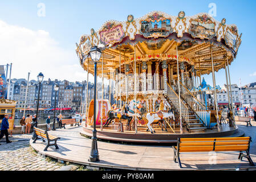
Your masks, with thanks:
[{"label": "white carousel horse with brown mane, nearest the staircase", "polygon": [[[148,130],[151,131],[151,133],[156,133],[156,131],[151,127],[152,124],[158,124],[159,122],[161,123],[161,128],[162,128],[162,123],[165,121],[165,118],[173,118],[175,120],[174,114],[172,113],[172,110],[170,107],[166,104],[166,101],[163,103],[161,102],[159,111],[153,112],[153,113],[147,113],[143,114],[143,119],[148,122]],[[165,131],[166,130],[166,123],[165,124]],[[163,129],[162,129],[163,131]]]}]

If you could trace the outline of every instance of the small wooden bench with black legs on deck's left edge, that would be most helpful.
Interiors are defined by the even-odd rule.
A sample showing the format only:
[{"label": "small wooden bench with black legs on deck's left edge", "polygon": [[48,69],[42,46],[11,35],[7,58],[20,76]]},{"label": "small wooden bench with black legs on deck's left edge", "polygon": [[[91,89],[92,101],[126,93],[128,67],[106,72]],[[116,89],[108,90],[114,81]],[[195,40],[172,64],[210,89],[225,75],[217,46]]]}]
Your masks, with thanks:
[{"label": "small wooden bench with black legs on deck's left edge", "polygon": [[[59,148],[57,145],[57,140],[60,139],[59,137],[55,137],[54,135],[48,134],[47,131],[38,129],[37,127],[34,127],[34,131],[35,131],[36,137],[33,143],[35,143],[35,141],[39,138],[42,139],[43,142],[47,140],[47,146],[44,148],[44,151],[47,151],[47,148],[50,146],[55,146],[56,149]],[[50,143],[50,142],[54,142],[54,143]]]}]

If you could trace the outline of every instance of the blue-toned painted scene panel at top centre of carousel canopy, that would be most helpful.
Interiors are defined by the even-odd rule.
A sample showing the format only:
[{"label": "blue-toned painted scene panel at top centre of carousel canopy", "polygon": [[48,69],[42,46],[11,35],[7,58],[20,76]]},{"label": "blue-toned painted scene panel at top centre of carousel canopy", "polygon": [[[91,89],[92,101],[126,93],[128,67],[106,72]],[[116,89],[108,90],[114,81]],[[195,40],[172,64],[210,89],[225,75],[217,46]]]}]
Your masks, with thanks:
[{"label": "blue-toned painted scene panel at top centre of carousel canopy", "polygon": [[157,13],[148,16],[147,19],[141,20],[140,33],[145,38],[166,37],[172,34],[173,28],[170,25],[171,19],[166,19],[164,16]]}]

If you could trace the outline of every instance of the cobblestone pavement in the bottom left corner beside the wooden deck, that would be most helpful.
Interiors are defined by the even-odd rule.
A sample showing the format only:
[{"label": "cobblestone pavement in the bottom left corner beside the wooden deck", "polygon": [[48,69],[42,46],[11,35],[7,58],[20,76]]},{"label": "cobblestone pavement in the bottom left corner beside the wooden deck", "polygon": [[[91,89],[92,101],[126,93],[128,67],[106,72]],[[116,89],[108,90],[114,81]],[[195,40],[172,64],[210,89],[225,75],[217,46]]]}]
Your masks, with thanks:
[{"label": "cobblestone pavement in the bottom left corner beside the wooden deck", "polygon": [[0,171],[54,171],[64,166],[35,152],[30,147],[32,135],[13,135],[12,143],[0,142]]}]

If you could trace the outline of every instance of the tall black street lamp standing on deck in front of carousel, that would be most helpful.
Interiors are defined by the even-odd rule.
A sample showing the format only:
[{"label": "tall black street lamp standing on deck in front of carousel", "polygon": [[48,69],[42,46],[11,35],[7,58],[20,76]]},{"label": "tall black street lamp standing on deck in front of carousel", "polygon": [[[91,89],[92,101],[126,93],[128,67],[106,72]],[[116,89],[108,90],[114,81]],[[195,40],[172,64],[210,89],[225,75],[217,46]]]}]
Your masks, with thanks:
[{"label": "tall black street lamp standing on deck in front of carousel", "polygon": [[97,62],[100,60],[101,51],[97,46],[91,48],[90,57],[94,61],[94,130],[92,130],[92,147],[90,162],[100,161],[99,152],[97,150],[97,137],[96,137],[96,86],[97,86]]}]

